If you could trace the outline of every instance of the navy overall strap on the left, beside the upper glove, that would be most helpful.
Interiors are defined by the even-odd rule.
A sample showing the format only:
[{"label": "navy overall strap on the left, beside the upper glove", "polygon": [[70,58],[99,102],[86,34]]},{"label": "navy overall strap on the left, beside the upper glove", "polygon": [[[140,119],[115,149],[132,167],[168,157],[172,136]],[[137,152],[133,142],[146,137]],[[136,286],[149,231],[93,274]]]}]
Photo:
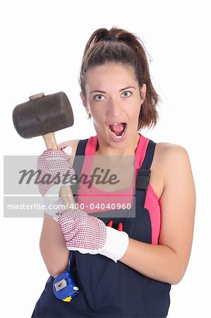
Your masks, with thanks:
[{"label": "navy overall strap on the left, beside the upper glove", "polygon": [[[83,160],[85,156],[85,147],[88,143],[88,139],[83,139],[78,142],[77,150],[76,150],[76,157],[73,162],[73,169],[75,170],[75,174],[77,177],[80,177],[80,172],[83,167]],[[76,183],[71,186],[73,196],[75,201],[77,201],[77,192],[78,192],[79,184]]]}]

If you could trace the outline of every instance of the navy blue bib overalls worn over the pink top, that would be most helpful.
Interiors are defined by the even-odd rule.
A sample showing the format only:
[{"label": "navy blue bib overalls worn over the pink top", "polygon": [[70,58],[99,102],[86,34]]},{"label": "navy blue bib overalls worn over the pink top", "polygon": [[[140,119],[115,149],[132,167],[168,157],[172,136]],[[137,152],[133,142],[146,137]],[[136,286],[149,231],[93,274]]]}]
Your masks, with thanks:
[{"label": "navy blue bib overalls worn over the pink top", "polygon": [[[87,141],[88,139],[78,143],[76,155],[85,154]],[[120,222],[123,223],[123,230],[129,237],[149,244],[152,242],[152,228],[150,214],[144,206],[155,145],[153,141],[149,141],[143,165],[138,170],[135,218],[114,218],[113,224],[113,228],[117,228]],[[99,217],[99,214],[95,213],[95,216]],[[106,224],[110,220],[101,216],[100,219]],[[169,283],[147,278],[121,261],[115,263],[100,254],[74,252],[74,256],[73,278],[80,293],[71,302],[56,299],[52,288],[54,278],[50,276],[32,318],[167,317],[171,288]]]}]

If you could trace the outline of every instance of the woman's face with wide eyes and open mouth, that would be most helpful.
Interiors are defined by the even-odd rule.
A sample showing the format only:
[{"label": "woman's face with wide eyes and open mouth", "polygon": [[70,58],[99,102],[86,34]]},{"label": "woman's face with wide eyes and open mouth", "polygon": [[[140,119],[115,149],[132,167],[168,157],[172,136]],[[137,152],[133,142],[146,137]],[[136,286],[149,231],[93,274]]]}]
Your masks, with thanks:
[{"label": "woman's face with wide eyes and open mouth", "polygon": [[107,63],[86,74],[83,105],[91,114],[100,146],[130,148],[137,141],[140,107],[146,86],[140,90],[131,66]]}]

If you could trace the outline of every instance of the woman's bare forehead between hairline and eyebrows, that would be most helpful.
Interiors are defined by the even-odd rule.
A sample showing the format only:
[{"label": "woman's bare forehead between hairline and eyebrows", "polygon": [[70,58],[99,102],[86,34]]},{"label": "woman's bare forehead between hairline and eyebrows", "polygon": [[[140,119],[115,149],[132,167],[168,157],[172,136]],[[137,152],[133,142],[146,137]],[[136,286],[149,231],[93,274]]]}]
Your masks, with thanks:
[{"label": "woman's bare forehead between hairline and eyebrows", "polygon": [[[135,71],[131,66],[123,64],[107,63],[94,66],[86,73],[86,88],[126,87],[130,85],[138,86],[135,78]],[[96,86],[96,87],[95,87]]]}]

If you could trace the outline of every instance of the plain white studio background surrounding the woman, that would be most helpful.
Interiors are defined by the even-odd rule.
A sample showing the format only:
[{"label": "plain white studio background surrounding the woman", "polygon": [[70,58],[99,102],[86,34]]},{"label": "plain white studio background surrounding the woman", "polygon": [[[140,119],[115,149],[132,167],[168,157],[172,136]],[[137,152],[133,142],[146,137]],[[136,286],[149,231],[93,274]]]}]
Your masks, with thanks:
[{"label": "plain white studio background surrounding the woman", "polygon": [[[22,139],[12,122],[13,107],[40,92],[63,90],[71,100],[75,124],[58,131],[57,141],[95,134],[80,102],[78,72],[91,33],[113,25],[139,35],[152,58],[160,119],[142,133],[186,148],[195,179],[193,250],[186,275],[172,286],[168,317],[210,317],[210,1],[1,1],[1,150],[42,153],[42,137]],[[1,317],[29,318],[42,293],[48,273],[41,227],[41,218],[1,219]]]}]

